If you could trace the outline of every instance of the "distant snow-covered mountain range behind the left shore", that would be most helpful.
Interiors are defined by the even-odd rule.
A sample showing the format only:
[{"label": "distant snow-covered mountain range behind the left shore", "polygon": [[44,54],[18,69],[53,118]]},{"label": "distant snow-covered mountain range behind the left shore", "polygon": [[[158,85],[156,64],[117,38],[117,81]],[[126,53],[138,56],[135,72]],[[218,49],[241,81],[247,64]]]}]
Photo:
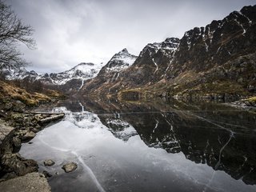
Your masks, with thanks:
[{"label": "distant snow-covered mountain range behind the left shore", "polygon": [[51,89],[70,93],[79,90],[85,80],[97,76],[101,67],[94,63],[81,62],[72,69],[61,73],[37,74],[34,70],[28,71],[24,67],[2,66],[1,74],[8,80],[19,79],[29,82],[42,82]]}]

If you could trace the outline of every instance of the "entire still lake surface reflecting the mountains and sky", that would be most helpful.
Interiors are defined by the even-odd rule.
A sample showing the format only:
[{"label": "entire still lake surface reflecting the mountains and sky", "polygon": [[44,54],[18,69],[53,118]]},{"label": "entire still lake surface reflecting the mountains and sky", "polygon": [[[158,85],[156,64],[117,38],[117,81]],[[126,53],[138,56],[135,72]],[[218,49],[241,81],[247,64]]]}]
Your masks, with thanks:
[{"label": "entire still lake surface reflecting the mountains and sky", "polygon": [[[46,109],[44,109],[46,110]],[[256,191],[256,115],[210,103],[62,102],[20,153],[52,191]],[[45,159],[54,166],[45,167]],[[66,174],[62,166],[77,162]]]}]

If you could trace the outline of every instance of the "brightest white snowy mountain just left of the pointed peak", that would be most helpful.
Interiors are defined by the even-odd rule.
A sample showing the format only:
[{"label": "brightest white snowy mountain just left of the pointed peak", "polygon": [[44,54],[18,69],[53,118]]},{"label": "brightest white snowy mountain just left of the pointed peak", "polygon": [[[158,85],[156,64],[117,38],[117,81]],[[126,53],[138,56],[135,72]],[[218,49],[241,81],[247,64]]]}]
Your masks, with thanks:
[{"label": "brightest white snowy mountain just left of the pointed peak", "polygon": [[54,85],[64,85],[72,79],[84,81],[89,78],[94,78],[100,69],[100,65],[94,65],[94,63],[91,62],[81,62],[70,70],[61,73],[40,74],[36,79]]}]

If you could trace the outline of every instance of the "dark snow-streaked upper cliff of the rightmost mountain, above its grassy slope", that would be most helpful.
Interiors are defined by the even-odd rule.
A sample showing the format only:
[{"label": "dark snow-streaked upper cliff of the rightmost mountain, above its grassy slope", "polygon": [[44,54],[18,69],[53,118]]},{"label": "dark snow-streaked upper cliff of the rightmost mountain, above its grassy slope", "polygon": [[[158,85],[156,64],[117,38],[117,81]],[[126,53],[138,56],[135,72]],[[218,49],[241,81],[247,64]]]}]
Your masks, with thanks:
[{"label": "dark snow-streaked upper cliff of the rightmost mountain, above its grassy slope", "polygon": [[187,31],[171,63],[168,77],[175,78],[188,70],[197,73],[212,70],[240,56],[254,54],[255,14],[256,6],[246,6],[223,20]]}]

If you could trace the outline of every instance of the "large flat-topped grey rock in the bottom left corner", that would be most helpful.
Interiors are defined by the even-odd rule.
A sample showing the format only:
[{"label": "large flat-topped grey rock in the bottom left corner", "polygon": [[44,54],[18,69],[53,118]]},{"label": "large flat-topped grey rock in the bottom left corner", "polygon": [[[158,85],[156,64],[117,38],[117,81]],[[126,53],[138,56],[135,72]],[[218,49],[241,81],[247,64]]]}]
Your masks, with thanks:
[{"label": "large flat-topped grey rock in the bottom left corner", "polygon": [[50,192],[50,186],[43,174],[31,173],[0,182],[1,191],[8,192]]}]

